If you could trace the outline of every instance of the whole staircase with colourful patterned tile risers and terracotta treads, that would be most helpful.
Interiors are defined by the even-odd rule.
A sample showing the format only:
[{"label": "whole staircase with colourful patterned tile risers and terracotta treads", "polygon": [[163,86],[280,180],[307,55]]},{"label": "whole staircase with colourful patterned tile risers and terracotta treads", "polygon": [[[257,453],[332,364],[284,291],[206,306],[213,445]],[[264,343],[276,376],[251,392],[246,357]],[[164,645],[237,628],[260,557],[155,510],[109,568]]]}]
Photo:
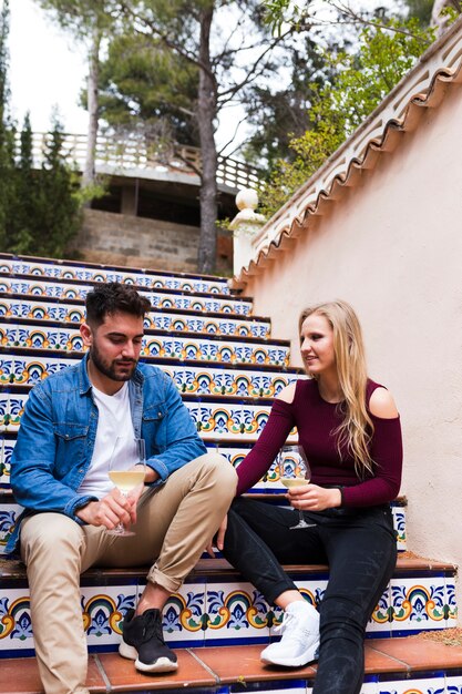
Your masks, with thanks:
[{"label": "whole staircase with colourful patterned tile risers and terracotta treads", "polygon": [[[151,302],[143,359],[166,370],[206,446],[239,465],[258,438],[271,399],[300,376],[289,344],[270,322],[217,277],[130,272],[0,254],[0,552],[18,514],[9,465],[31,387],[83,355],[79,322],[97,282],[126,282]],[[296,432],[290,439],[296,440]],[[275,468],[250,493],[284,503]],[[462,694],[462,647],[417,636],[456,625],[455,568],[407,552],[405,500],[393,503],[399,561],[368,626],[362,694]],[[305,598],[322,599],[328,568],[287,568]],[[204,557],[164,610],[164,633],[178,649],[175,674],[146,676],[116,653],[120,624],[146,570],[90,570],[81,581],[92,692],[151,692],[185,686],[211,694],[294,690],[307,694],[316,666],[264,666],[258,654],[280,612],[224,559]],[[29,593],[20,562],[0,558],[0,694],[38,694]],[[328,694],[328,693],[326,693]]]}]

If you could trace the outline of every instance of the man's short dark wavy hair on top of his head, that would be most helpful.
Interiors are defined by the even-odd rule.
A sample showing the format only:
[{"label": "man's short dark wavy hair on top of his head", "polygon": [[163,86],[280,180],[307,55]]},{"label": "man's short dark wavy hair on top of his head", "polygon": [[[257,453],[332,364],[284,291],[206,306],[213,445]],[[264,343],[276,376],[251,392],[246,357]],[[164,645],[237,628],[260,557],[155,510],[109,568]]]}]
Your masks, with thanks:
[{"label": "man's short dark wavy hair on top of his head", "polygon": [[138,318],[150,310],[151,304],[129,284],[110,282],[101,284],[86,295],[86,322],[99,326],[109,314],[132,314]]}]

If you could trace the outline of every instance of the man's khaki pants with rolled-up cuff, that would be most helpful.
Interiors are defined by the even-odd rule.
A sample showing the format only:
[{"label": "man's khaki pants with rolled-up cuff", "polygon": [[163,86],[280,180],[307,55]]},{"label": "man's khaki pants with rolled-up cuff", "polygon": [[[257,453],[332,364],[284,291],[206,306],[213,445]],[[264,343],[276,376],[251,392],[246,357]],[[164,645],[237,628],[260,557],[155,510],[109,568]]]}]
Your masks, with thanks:
[{"label": "man's khaki pants with rolled-up cuff", "polygon": [[[136,534],[109,535],[61,513],[21,525],[40,676],[47,694],[88,694],[88,653],[80,574],[90,567],[152,564],[147,580],[175,592],[219,527],[236,490],[236,472],[218,453],[201,456],[147,489]],[[153,563],[154,562],[154,563]]]}]

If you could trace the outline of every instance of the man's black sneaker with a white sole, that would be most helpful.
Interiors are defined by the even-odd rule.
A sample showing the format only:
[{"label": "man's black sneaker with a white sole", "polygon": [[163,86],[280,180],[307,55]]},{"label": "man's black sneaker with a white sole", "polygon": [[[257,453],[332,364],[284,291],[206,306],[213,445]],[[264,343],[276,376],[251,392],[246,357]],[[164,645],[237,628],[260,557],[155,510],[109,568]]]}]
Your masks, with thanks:
[{"label": "man's black sneaker with a white sole", "polygon": [[178,667],[175,653],[164,641],[160,610],[146,610],[138,616],[134,610],[126,611],[119,653],[135,661],[141,672],[173,672]]}]

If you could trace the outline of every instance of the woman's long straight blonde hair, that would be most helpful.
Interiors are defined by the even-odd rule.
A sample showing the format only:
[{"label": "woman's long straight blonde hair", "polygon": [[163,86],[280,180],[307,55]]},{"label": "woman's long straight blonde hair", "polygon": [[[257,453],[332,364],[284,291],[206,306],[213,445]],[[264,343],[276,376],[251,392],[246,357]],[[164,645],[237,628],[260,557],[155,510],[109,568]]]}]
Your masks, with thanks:
[{"label": "woman's long straight blonde hair", "polygon": [[355,459],[358,477],[372,473],[373,461],[369,443],[373,435],[372,419],[367,409],[368,380],[365,344],[358,316],[347,302],[335,300],[310,306],[301,312],[299,331],[311,314],[324,316],[333,331],[333,353],[342,401],[338,405],[343,421],[332,432],[340,450],[347,447]]}]

